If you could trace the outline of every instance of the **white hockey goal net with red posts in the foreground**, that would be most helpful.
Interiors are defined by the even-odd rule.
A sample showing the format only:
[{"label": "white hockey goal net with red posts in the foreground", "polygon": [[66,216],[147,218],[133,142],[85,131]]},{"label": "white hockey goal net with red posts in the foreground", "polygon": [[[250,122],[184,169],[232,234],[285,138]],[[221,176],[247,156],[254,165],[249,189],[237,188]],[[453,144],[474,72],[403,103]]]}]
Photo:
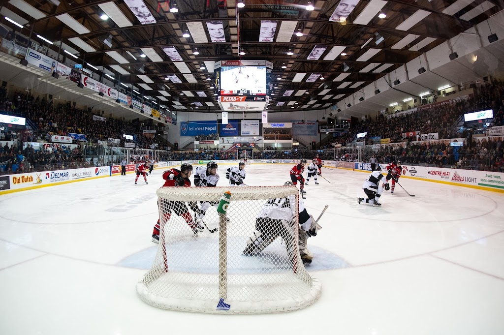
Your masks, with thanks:
[{"label": "white hockey goal net with red posts in the foreground", "polygon": [[[227,190],[230,204],[221,214],[217,207]],[[301,309],[319,298],[320,282],[299,256],[296,187],[167,187],[157,194],[159,246],[137,284],[148,304],[267,313]],[[205,229],[194,233],[201,217]]]}]

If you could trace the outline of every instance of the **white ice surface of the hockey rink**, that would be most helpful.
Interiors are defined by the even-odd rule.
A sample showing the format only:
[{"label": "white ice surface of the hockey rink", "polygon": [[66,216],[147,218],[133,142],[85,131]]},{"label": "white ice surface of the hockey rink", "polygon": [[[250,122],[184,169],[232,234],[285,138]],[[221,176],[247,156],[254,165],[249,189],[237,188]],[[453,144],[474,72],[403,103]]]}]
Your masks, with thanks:
[{"label": "white ice surface of the hockey rink", "polygon": [[[226,186],[221,165],[219,186]],[[251,165],[245,182],[283,185],[291,165]],[[305,206],[323,227],[307,268],[312,306],[267,315],[158,309],[137,295],[150,267],[156,189],[135,175],[0,195],[0,334],[504,333],[504,194],[401,178],[382,208],[358,205],[368,173],[323,168]],[[208,231],[203,234],[210,234]]]}]

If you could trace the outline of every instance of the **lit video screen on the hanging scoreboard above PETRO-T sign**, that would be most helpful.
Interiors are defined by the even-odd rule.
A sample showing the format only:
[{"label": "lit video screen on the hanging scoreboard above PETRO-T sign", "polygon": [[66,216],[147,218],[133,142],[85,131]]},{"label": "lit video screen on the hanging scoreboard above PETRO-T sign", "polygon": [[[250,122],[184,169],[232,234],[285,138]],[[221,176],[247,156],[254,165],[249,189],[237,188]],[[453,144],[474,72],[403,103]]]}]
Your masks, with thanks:
[{"label": "lit video screen on the hanging scoreboard above PETRO-T sign", "polygon": [[221,66],[221,95],[266,95],[266,66]]}]

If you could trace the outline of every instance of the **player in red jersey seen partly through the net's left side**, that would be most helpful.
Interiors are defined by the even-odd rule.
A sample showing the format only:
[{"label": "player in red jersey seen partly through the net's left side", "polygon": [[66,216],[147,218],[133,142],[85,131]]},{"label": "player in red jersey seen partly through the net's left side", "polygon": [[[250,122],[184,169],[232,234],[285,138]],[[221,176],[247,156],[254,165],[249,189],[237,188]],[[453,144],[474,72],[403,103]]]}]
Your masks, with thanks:
[{"label": "player in red jersey seen partly through the net's left side", "polygon": [[[165,180],[163,187],[191,187],[191,180],[189,180],[189,177],[192,173],[193,166],[187,163],[183,163],[180,166],[180,170],[166,170],[163,172],[163,179]],[[187,222],[187,225],[191,227],[195,235],[198,234],[199,231],[203,231],[204,227],[194,222],[193,216],[187,209],[187,206],[184,202],[175,202],[160,199],[158,204],[161,204],[161,206],[163,207],[163,217],[158,219],[158,222],[154,226],[154,230],[152,232],[152,242],[159,243],[159,225],[161,223],[161,220],[163,220],[163,224],[170,220],[171,212],[174,212],[179,217],[182,217],[185,222]],[[196,209],[196,204],[191,207],[194,207]]]}]

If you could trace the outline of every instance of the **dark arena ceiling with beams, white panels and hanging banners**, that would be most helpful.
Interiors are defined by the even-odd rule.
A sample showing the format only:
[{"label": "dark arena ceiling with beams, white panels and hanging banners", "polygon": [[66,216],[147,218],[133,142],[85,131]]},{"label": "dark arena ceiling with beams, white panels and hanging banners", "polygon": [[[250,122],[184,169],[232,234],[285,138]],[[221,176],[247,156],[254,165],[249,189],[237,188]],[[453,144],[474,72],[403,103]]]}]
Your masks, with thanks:
[{"label": "dark arena ceiling with beams, white panels and hanging banners", "polygon": [[[118,88],[129,93],[134,85],[170,110],[220,110],[215,61],[271,61],[268,111],[276,112],[329,108],[502,10],[495,0],[243,0],[243,8],[238,2],[10,0],[2,14],[22,20],[24,35],[56,52],[59,42],[36,35],[62,41],[76,61],[113,77]],[[264,20],[276,23],[264,23],[261,35]],[[212,37],[210,27],[224,36]],[[172,61],[164,48],[181,59]]]}]

